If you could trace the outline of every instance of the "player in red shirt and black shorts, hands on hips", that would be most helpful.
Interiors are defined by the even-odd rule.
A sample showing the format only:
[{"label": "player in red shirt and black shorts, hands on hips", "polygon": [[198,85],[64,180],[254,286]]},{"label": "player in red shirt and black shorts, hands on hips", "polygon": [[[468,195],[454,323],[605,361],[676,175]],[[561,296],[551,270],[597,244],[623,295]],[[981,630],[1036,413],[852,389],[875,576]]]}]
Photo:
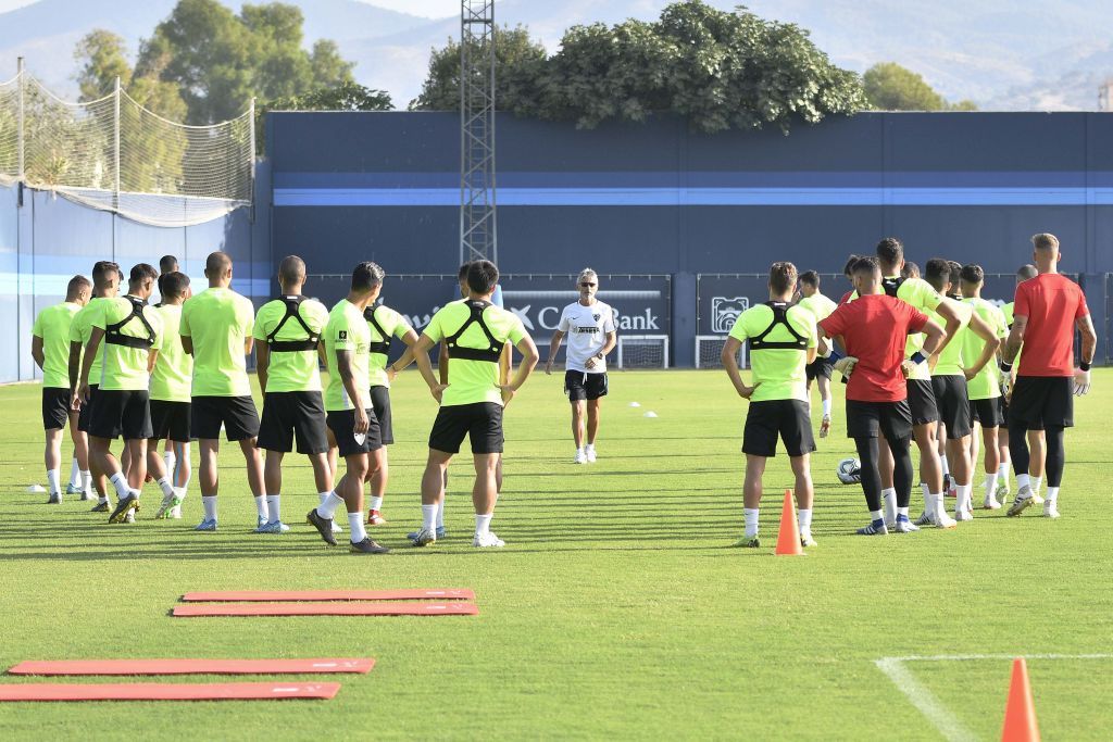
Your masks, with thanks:
[{"label": "player in red shirt and black shorts, hands on hips", "polygon": [[[905,379],[914,364],[927,363],[946,337],[943,328],[922,311],[881,287],[881,268],[876,258],[859,258],[853,267],[858,298],[835,309],[819,323],[820,337],[839,338],[853,372],[846,387],[847,436],[854,438],[861,462],[861,488],[866,494],[870,523],[864,536],[888,533],[881,513],[881,475],[878,468],[878,435],[885,436],[894,459],[897,491],[897,533],[918,531],[908,520],[912,496],[912,412]],[[909,333],[924,333],[923,352],[905,359]]]}]

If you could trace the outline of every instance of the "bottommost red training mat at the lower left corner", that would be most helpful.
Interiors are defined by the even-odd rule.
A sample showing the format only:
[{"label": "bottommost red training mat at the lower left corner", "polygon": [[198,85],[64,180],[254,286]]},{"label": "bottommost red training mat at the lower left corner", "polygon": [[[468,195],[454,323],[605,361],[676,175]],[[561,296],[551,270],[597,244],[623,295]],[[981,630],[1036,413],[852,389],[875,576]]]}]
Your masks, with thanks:
[{"label": "bottommost red training mat at the lower left corner", "polygon": [[331,699],[339,683],[0,684],[0,701],[274,701]]}]

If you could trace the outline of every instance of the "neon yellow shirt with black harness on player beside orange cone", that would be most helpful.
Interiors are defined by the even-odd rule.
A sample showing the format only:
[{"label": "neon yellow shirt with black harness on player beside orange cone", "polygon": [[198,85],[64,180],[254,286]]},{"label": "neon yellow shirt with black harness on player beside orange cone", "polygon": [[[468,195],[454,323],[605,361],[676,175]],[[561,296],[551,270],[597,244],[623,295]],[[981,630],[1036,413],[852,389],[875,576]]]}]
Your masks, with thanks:
[{"label": "neon yellow shirt with black harness on player beside orange cone", "polygon": [[[799,335],[807,338],[807,347],[818,344],[816,333],[816,316],[800,306],[789,307],[786,320]],[[730,337],[746,342],[761,335],[774,321],[772,309],[759,304],[750,307],[738,316],[735,326],[730,328]],[[777,324],[765,337],[766,340],[795,340],[792,334]],[[750,350],[750,375],[754,384],[760,384],[750,397],[750,402],[769,402],[772,399],[808,399],[808,379],[805,366],[808,363],[807,350],[796,348],[765,348]],[[451,370],[451,366],[449,367]]]}]

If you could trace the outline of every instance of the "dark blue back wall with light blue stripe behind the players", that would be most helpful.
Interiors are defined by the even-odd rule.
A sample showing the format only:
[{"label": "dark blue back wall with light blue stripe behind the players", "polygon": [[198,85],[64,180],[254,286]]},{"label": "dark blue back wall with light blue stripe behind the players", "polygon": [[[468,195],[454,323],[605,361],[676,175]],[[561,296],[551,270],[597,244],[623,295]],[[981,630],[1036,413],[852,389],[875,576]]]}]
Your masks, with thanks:
[{"label": "dark blue back wall with light blue stripe behind the players", "polygon": [[[311,273],[363,259],[395,275],[452,273],[454,113],[272,113],[267,150],[274,255],[307,256]],[[1109,113],[863,113],[787,137],[706,136],[677,119],[578,130],[505,115],[498,171],[500,268],[671,275],[677,365],[692,363],[700,274],[758,273],[775,259],[838,273],[887,235],[919,263],[938,255],[1008,274],[1030,260],[1032,234],[1052,231],[1105,335]]]}]

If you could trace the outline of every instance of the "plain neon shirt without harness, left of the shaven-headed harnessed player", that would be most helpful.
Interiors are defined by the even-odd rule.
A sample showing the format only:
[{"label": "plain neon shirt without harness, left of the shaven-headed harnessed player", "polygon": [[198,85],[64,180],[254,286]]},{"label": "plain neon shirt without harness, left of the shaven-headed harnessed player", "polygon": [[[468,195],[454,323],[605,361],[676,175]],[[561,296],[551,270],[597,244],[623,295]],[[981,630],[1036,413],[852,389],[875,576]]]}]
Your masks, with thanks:
[{"label": "plain neon shirt without harness, left of the shaven-headed harnessed player", "polygon": [[195,397],[248,397],[244,346],[255,327],[255,308],[230,288],[207,288],[181,305],[183,337],[194,344]]}]

